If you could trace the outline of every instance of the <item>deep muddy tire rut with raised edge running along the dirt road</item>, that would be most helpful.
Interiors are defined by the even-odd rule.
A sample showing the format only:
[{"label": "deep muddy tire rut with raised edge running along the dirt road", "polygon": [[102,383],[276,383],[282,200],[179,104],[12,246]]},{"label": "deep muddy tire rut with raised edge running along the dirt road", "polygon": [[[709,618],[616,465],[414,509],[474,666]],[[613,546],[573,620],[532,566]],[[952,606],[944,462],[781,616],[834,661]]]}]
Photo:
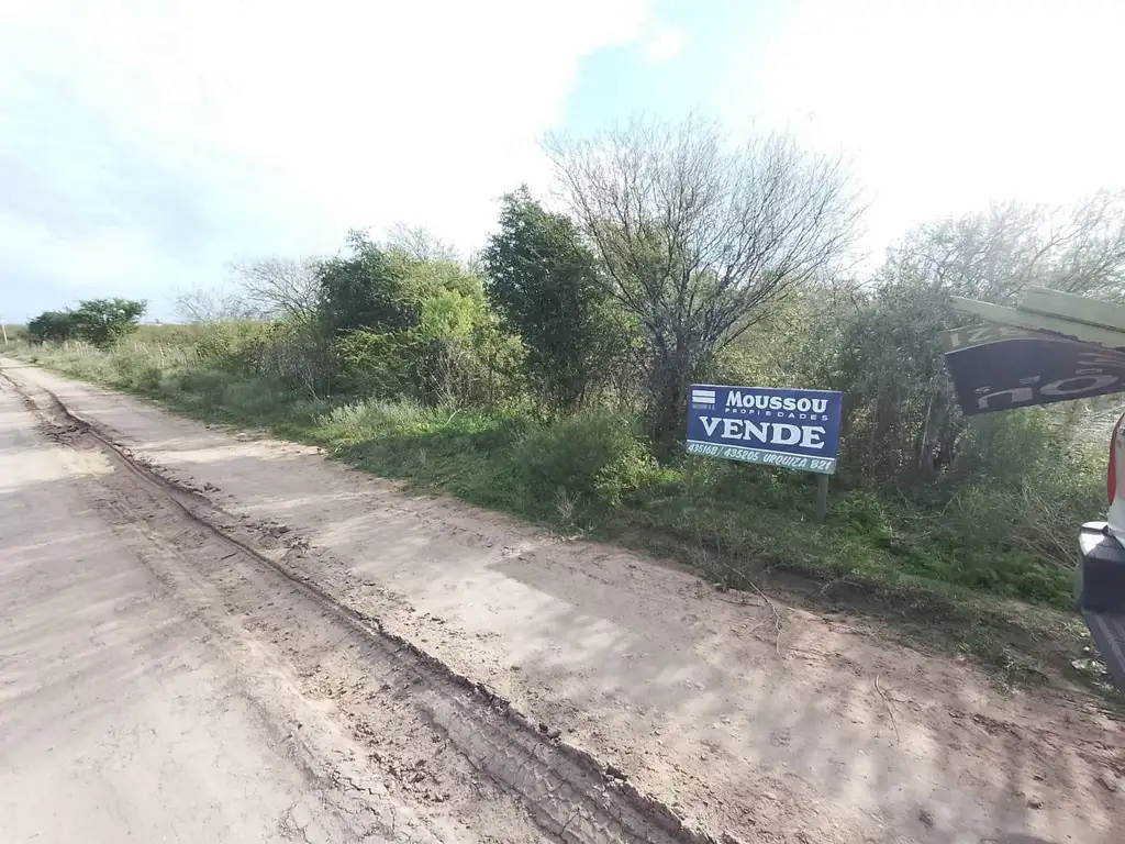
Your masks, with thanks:
[{"label": "deep muddy tire rut with raised edge running along the dirt road", "polygon": [[[405,681],[382,682],[379,690],[405,690],[406,694],[399,697],[414,699],[415,708],[431,729],[443,734],[446,743],[475,770],[523,802],[540,829],[552,838],[574,844],[619,841],[713,844],[714,838],[688,827],[675,811],[624,781],[612,766],[561,740],[559,730],[536,724],[485,684],[457,673],[413,643],[386,630],[378,618],[343,605],[310,578],[258,550],[253,537],[234,517],[195,490],[181,487],[135,459],[127,448],[74,413],[50,389],[7,375],[3,378],[43,421],[48,436],[71,447],[101,450],[115,469],[129,474],[136,483],[148,487],[150,495],[172,505],[182,518],[232,548],[224,557],[227,565],[240,556],[243,559],[237,562],[252,560],[277,582],[331,616],[339,627],[366,646],[364,656],[375,657],[374,662]],[[362,725],[353,722],[357,726],[363,734]],[[388,762],[392,773],[398,767],[394,760],[381,760],[378,752],[374,757]],[[407,773],[417,776],[417,772]],[[354,782],[348,782],[349,778],[340,779],[345,785],[357,788]]]}]

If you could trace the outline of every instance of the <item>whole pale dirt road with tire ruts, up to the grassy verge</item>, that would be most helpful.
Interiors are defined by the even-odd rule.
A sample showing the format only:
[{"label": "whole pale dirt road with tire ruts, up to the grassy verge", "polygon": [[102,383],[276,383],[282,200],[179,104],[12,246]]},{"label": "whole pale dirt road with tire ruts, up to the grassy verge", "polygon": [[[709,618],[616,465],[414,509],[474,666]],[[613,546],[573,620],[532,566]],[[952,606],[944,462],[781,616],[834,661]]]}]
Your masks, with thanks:
[{"label": "whole pale dirt road with tire ruts, up to the grassy verge", "polygon": [[0,841],[1125,841],[1081,692],[3,376]]}]

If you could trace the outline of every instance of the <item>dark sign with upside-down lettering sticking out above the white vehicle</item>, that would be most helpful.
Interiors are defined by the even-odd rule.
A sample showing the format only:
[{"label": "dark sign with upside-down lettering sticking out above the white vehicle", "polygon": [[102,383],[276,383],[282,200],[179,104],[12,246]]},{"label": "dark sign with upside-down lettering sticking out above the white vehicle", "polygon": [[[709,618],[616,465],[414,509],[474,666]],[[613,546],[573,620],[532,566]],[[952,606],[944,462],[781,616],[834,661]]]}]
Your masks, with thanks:
[{"label": "dark sign with upside-down lettering sticking out above the white vehicle", "polygon": [[1125,392],[1125,352],[1007,325],[947,331],[945,363],[966,416]]}]

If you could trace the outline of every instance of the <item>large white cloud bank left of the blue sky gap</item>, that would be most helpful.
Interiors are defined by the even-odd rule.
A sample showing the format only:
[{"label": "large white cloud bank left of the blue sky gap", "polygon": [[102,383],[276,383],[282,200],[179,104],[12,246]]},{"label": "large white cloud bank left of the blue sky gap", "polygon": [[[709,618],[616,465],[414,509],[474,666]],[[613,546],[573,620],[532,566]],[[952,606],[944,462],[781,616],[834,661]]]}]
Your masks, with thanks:
[{"label": "large white cloud bank left of the blue sky gap", "polygon": [[54,297],[28,307],[159,303],[349,226],[474,248],[500,194],[544,181],[536,138],[582,57],[651,20],[650,0],[0,0],[0,277]]}]

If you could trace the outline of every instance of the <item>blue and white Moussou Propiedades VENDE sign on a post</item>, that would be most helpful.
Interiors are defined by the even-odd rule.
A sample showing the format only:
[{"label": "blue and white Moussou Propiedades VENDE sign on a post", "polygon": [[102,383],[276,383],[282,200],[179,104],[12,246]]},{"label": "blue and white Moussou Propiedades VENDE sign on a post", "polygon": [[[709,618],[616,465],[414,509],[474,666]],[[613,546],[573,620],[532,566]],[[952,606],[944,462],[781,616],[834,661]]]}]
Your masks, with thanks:
[{"label": "blue and white Moussou Propiedades VENDE sign on a post", "polygon": [[687,451],[789,469],[836,472],[842,393],[692,385]]}]

